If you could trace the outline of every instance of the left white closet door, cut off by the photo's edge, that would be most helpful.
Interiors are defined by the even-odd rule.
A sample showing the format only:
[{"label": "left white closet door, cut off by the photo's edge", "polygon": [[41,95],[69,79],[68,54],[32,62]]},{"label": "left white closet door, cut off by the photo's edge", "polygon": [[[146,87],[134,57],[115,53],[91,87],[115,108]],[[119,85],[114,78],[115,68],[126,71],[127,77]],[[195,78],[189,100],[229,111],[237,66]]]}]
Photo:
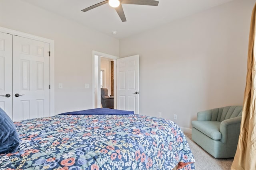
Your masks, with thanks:
[{"label": "left white closet door, cut off by the photo's edge", "polygon": [[12,35],[1,32],[0,95],[0,107],[12,119]]}]

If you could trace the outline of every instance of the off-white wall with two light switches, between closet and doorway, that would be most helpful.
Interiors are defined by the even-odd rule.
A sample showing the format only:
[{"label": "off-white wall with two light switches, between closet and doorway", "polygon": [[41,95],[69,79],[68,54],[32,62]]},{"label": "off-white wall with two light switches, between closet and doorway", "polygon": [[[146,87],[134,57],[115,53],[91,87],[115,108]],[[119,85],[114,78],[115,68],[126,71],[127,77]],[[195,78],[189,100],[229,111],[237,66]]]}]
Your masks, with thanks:
[{"label": "off-white wall with two light switches, between closet and doorway", "polygon": [[0,26],[54,40],[56,114],[92,108],[92,50],[118,56],[118,39],[20,0],[0,0]]}]

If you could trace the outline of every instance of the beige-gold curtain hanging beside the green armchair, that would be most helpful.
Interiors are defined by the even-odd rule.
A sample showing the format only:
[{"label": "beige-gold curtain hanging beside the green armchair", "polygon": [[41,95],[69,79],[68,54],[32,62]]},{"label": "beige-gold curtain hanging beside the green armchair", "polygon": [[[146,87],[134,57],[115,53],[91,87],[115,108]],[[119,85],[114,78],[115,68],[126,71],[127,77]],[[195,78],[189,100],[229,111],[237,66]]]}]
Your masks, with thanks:
[{"label": "beige-gold curtain hanging beside the green armchair", "polygon": [[[252,11],[241,130],[231,170],[256,170],[256,5]],[[256,47],[256,46],[255,46]]]}]

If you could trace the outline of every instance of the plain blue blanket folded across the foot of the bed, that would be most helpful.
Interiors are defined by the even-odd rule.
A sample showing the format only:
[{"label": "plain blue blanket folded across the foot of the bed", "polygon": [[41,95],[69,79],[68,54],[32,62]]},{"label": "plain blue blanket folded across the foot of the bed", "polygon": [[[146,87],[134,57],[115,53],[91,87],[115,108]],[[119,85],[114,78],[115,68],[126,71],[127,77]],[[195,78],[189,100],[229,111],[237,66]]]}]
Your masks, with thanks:
[{"label": "plain blue blanket folded across the foot of the bed", "polygon": [[61,113],[59,115],[132,115],[134,111],[125,111],[117,109],[108,109],[108,108],[96,108],[80,111],[72,111]]}]

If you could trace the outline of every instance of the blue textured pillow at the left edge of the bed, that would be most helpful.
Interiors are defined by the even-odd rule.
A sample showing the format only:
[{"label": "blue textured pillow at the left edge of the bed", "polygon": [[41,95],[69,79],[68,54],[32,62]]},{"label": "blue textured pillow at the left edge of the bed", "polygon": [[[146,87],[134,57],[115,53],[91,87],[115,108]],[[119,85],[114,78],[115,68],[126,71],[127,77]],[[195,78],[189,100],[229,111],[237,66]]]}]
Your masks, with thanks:
[{"label": "blue textured pillow at the left edge of the bed", "polygon": [[0,108],[0,154],[14,153],[19,145],[20,139],[13,121]]}]

